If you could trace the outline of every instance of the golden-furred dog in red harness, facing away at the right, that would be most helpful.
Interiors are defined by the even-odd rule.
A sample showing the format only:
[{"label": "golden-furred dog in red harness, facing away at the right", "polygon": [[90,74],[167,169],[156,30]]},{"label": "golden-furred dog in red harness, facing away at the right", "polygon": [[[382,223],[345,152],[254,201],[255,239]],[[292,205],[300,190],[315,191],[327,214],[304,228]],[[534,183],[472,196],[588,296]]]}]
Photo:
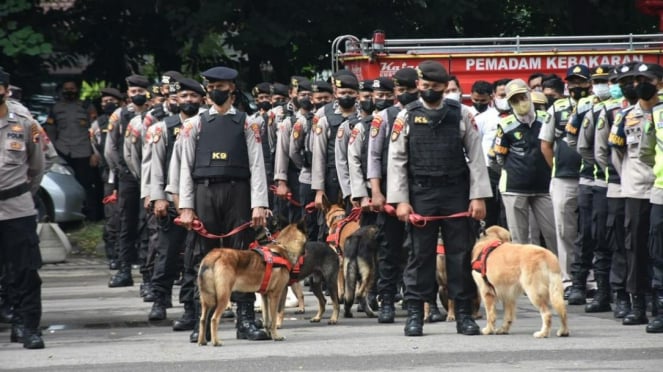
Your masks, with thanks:
[{"label": "golden-furred dog in red harness, facing away at the right", "polygon": [[[488,251],[486,248],[491,246],[494,250]],[[557,336],[569,335],[559,261],[552,252],[533,244],[511,243],[509,231],[491,226],[472,250],[472,266],[472,276],[486,307],[487,322],[481,333],[508,334],[515,319],[516,301],[524,292],[541,313],[543,324],[534,337],[549,336],[551,305],[561,321]],[[498,300],[504,303],[504,323],[496,329]]]}]

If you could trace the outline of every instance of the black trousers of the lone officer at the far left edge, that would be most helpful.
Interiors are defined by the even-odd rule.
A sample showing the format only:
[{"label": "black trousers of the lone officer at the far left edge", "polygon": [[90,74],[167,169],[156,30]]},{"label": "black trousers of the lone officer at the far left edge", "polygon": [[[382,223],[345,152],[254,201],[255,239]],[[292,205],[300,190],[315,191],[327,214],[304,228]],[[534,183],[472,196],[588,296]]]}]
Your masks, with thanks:
[{"label": "black trousers of the lone officer at the far left edge", "polygon": [[5,268],[10,301],[25,328],[41,321],[41,252],[35,216],[0,221],[0,262]]}]

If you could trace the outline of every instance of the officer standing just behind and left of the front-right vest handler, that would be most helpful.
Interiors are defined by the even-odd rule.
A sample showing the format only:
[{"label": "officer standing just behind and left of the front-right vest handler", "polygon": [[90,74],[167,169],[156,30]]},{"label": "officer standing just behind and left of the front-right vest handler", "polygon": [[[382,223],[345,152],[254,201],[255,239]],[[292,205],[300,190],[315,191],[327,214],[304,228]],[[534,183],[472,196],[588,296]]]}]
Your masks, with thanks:
[{"label": "officer standing just behind and left of the front-right vest handler", "polygon": [[395,317],[394,298],[397,284],[403,272],[403,241],[405,225],[398,218],[385,214],[387,193],[387,159],[389,158],[389,136],[398,113],[410,102],[419,98],[417,71],[402,68],[393,76],[394,95],[398,103],[378,112],[371,122],[368,138],[366,177],[371,184],[371,207],[378,215],[378,296],[380,297],[379,323],[393,323]]}]

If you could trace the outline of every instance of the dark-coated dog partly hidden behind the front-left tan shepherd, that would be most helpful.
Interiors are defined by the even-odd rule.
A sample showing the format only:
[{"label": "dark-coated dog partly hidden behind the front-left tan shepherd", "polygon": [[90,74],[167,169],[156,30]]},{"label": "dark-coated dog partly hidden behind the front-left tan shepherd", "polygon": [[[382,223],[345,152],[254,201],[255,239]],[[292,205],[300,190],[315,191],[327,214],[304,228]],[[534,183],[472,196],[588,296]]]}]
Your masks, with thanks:
[{"label": "dark-coated dog partly hidden behind the front-left tan shepherd", "polygon": [[[339,261],[338,254],[327,244],[323,242],[308,242],[304,246],[303,263],[299,268],[298,281],[310,277],[311,291],[318,299],[318,313],[311,318],[311,323],[318,323],[325,312],[325,295],[322,291],[322,283],[325,283],[329,291],[329,297],[332,300],[332,315],[329,318],[329,324],[338,323],[338,314],[340,305],[338,300],[338,272]],[[285,302],[285,296],[281,298],[281,303]],[[277,327],[280,328],[283,323],[283,306],[278,314]]]}]

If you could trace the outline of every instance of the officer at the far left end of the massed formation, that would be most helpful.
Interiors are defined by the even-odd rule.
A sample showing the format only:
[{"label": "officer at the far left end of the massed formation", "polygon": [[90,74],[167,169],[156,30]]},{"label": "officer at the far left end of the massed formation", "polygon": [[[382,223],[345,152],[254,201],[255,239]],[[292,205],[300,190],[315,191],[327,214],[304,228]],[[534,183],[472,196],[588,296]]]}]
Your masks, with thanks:
[{"label": "officer at the far left end of the massed formation", "polygon": [[[106,145],[106,136],[108,135],[108,123],[110,115],[117,110],[123,97],[122,93],[115,88],[103,88],[101,90],[101,115],[92,122],[90,126],[90,142],[92,143],[92,151],[95,156],[99,158],[99,168],[101,172],[101,179],[104,183],[104,195],[115,194],[117,197],[117,190],[114,183],[117,182],[113,170],[108,167],[104,160],[104,147]],[[103,240],[106,249],[106,258],[108,259],[108,267],[111,270],[117,270],[119,263],[117,259],[117,233],[119,227],[119,211],[117,202],[106,203],[104,205],[104,215],[106,221],[103,228]]]}]

